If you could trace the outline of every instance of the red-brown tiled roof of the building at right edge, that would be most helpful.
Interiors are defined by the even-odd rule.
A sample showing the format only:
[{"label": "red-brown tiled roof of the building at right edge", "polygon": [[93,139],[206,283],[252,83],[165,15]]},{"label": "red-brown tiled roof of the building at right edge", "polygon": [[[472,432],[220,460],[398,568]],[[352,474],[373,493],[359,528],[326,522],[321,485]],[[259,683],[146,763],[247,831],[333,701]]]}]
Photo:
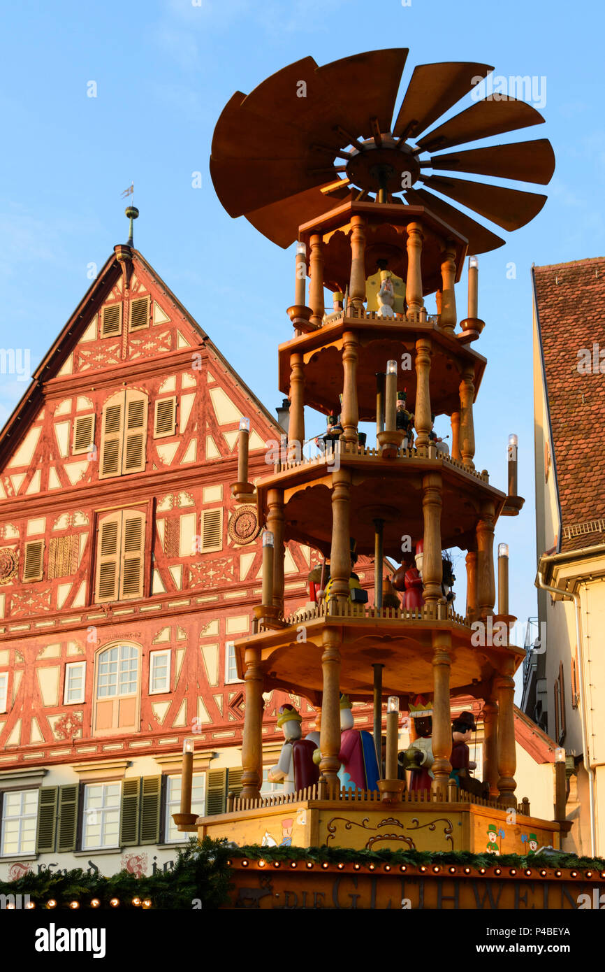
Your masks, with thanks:
[{"label": "red-brown tiled roof of the building at right edge", "polygon": [[[561,550],[602,543],[602,532],[565,536],[565,528],[605,517],[605,355],[583,374],[578,352],[605,351],[605,257],[534,266],[534,289],[549,401]],[[598,358],[598,351],[597,351]]]}]

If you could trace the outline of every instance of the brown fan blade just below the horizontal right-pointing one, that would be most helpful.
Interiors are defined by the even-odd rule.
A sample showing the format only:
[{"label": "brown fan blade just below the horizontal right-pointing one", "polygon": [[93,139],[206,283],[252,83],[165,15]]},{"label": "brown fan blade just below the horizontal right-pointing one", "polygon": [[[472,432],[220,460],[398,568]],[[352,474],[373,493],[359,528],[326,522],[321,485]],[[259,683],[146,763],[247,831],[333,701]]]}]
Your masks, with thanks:
[{"label": "brown fan blade just below the horizontal right-pointing one", "polygon": [[537,216],[547,200],[538,192],[521,192],[503,189],[486,183],[472,183],[466,179],[450,179],[445,176],[422,178],[429,189],[449,195],[462,206],[474,209],[492,223],[504,229],[519,229]]}]

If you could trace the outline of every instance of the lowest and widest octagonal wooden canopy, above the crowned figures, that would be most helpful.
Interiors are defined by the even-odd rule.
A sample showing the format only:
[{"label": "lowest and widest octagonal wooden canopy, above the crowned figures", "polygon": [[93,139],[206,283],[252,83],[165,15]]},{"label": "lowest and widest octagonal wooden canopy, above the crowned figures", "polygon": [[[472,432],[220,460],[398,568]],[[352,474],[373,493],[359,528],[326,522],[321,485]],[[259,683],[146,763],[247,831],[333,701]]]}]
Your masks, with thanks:
[{"label": "lowest and widest octagonal wooden canopy, above the crowned figures", "polygon": [[[238,676],[244,677],[247,649],[259,649],[264,691],[285,689],[320,706],[321,638],[326,626],[335,628],[340,637],[340,690],[359,702],[372,700],[372,665],[377,663],[385,666],[383,695],[430,697],[436,634],[449,634],[452,639],[450,691],[453,695],[468,693],[477,698],[488,697],[489,683],[502,670],[506,659],[513,658],[517,669],[524,656],[523,649],[513,645],[473,646],[473,632],[461,619],[419,620],[371,615],[372,608],[359,617],[321,615],[311,621],[301,619],[287,628],[247,636],[235,642]],[[299,641],[303,624],[306,642]]]}]

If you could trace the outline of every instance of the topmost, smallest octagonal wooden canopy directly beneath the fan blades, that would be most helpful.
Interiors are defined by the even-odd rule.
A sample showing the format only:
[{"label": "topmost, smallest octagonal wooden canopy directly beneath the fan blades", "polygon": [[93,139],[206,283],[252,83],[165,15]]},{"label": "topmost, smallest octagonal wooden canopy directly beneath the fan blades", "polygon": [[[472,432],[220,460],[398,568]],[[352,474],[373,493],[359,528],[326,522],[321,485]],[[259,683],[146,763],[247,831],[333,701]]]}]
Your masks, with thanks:
[{"label": "topmost, smallest octagonal wooden canopy directly beneath the fan blades", "polygon": [[308,252],[311,237],[317,233],[323,237],[323,282],[328,290],[341,291],[344,294],[349,284],[353,216],[362,216],[365,220],[366,279],[379,269],[378,260],[387,260],[389,270],[402,280],[407,279],[406,226],[411,223],[420,223],[422,227],[422,294],[434,294],[442,286],[440,267],[447,242],[451,242],[454,248],[455,280],[460,279],[468,249],[467,239],[423,206],[404,206],[403,203],[381,203],[378,206],[373,202],[346,202],[302,224],[298,230],[300,239],[307,244]]}]

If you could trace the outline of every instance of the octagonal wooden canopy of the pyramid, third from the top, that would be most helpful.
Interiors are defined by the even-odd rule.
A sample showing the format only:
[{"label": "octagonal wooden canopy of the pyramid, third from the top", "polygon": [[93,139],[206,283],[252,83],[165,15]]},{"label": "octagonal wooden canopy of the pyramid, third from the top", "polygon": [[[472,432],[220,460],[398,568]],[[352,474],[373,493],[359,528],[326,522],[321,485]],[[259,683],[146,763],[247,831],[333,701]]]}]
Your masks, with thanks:
[{"label": "octagonal wooden canopy of the pyramid, third from the top", "polygon": [[[385,521],[385,556],[396,563],[402,559],[402,535],[409,535],[413,542],[423,537],[422,478],[431,472],[441,473],[443,480],[441,548],[474,548],[482,503],[493,503],[497,518],[506,494],[462,463],[423,458],[414,449],[401,451],[405,455],[393,460],[361,449],[346,449],[339,457],[341,468],[352,474],[351,536],[356,540],[357,554],[374,556],[375,518]],[[329,457],[320,456],[263,476],[256,483],[261,517],[268,508],[268,491],[284,490],[285,539],[316,546],[326,557],[332,541],[331,462]]]}]

